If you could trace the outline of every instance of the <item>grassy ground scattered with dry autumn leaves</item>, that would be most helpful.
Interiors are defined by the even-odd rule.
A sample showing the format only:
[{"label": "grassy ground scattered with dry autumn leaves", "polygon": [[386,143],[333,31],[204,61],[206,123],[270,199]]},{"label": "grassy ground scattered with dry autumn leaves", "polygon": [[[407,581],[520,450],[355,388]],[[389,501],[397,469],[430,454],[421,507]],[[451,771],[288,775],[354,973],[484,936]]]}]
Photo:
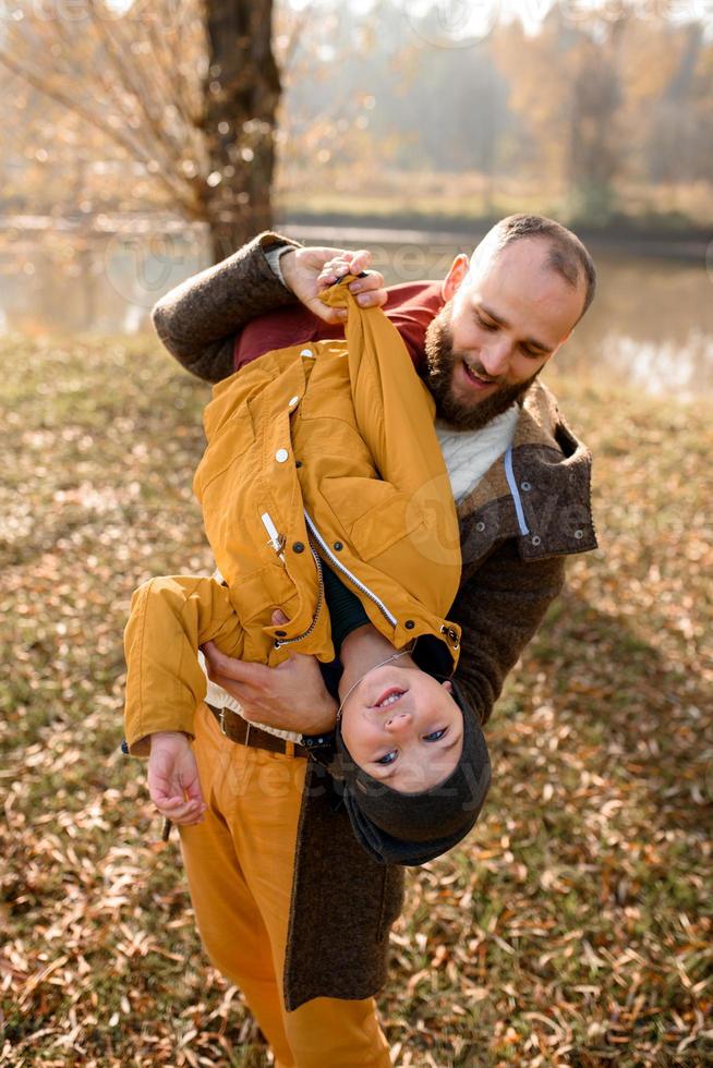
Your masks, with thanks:
[{"label": "grassy ground scattered with dry autumn leaves", "polygon": [[[10,339],[2,367],[0,1064],[266,1065],[119,751],[131,591],[210,568],[206,388],[148,339]],[[602,547],[493,715],[482,822],[409,876],[398,1065],[713,1063],[711,410],[557,390]]]}]

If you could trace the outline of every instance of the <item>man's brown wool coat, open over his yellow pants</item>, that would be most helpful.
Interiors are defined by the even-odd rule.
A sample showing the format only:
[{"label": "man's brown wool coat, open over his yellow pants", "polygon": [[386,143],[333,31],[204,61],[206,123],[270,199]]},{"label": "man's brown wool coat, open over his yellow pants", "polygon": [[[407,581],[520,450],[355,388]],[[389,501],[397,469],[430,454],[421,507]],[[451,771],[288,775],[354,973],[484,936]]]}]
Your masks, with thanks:
[{"label": "man's brown wool coat, open over his yellow pants", "polygon": [[[154,325],[188,371],[208,381],[228,377],[241,327],[294,301],[265,257],[286,243],[261,234],[159,301]],[[505,457],[496,461],[458,506],[462,574],[449,614],[462,628],[456,678],[483,724],[561,590],[566,557],[596,547],[590,477],[589,451],[536,383],[521,405],[511,468]],[[313,997],[375,994],[402,895],[403,870],[366,857],[326,773],[311,762],[283,976],[288,1009]]]}]

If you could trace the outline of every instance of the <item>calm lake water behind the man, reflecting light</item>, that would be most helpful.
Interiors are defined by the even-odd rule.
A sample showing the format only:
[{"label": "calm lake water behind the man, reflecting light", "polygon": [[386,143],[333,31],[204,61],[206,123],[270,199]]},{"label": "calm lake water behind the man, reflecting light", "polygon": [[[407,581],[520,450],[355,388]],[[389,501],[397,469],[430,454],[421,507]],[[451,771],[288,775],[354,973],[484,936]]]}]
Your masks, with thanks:
[{"label": "calm lake water behind the man, reflecting light", "polygon": [[[0,332],[135,333],[149,328],[158,298],[207,266],[200,232],[180,222],[160,232],[141,221],[120,233],[15,229],[0,243]],[[285,227],[307,243],[337,243],[336,231]],[[389,282],[443,277],[472,241],[407,231],[341,231],[343,244],[371,247]],[[5,234],[7,236],[7,234]],[[13,236],[13,234],[11,234]],[[641,258],[593,250],[596,300],[557,355],[561,371],[618,379],[643,391],[691,400],[713,396],[713,260]]]}]

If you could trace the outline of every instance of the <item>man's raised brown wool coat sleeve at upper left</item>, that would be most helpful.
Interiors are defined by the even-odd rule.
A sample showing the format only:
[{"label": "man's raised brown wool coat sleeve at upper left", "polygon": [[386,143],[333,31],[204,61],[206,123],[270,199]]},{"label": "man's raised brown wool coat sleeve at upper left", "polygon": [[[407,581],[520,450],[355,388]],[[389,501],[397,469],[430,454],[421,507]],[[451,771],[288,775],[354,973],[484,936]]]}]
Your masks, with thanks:
[{"label": "man's raised brown wool coat sleeve at upper left", "polygon": [[206,381],[233,372],[233,350],[242,326],[297,298],[267,262],[266,252],[298,243],[266,231],[232,256],[186,279],[158,301],[152,321],[178,362]]}]

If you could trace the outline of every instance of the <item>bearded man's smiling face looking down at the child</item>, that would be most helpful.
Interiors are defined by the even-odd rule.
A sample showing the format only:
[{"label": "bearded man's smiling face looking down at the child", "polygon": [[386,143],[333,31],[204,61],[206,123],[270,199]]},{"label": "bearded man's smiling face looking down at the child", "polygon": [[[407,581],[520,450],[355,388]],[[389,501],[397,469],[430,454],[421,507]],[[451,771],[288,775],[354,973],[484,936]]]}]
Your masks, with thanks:
[{"label": "bearded man's smiling face looking down at the child", "polygon": [[447,304],[426,331],[427,384],[438,415],[478,429],[528,389],[567,339],[584,301],[545,266],[548,245],[523,238],[468,272],[458,257],[444,282]]}]

